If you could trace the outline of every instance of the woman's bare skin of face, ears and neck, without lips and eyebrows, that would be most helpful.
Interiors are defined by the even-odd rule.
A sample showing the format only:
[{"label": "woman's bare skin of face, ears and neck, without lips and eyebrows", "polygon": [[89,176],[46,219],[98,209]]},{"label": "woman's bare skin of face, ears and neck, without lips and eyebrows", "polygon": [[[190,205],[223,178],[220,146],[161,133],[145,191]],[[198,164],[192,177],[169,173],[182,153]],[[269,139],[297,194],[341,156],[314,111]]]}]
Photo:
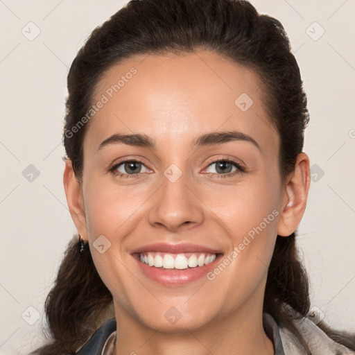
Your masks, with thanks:
[{"label": "woman's bare skin of face, ears and neck, without lips and eyebrows", "polygon": [[[277,234],[290,235],[304,214],[309,158],[298,155],[282,184],[279,135],[253,71],[209,51],[135,57],[105,73],[94,102],[132,67],[135,76],[88,123],[81,184],[69,159],[64,170],[71,216],[113,296],[114,354],[274,354],[262,325],[268,265]],[[245,112],[234,103],[241,93],[254,101]],[[227,130],[250,135],[260,150],[248,141],[191,148],[199,135]],[[110,135],[133,132],[155,139],[156,150],[125,144],[98,150]],[[141,159],[138,177],[107,172],[122,157]],[[213,162],[223,158],[243,162],[246,171],[216,170]],[[171,164],[182,172],[175,182],[164,175]],[[125,164],[117,169],[130,173]],[[212,281],[163,286],[130,255],[157,241],[197,243],[227,255],[273,210],[278,216]],[[92,246],[102,234],[111,243],[103,254]],[[172,306],[182,315],[175,324],[164,317]]]}]

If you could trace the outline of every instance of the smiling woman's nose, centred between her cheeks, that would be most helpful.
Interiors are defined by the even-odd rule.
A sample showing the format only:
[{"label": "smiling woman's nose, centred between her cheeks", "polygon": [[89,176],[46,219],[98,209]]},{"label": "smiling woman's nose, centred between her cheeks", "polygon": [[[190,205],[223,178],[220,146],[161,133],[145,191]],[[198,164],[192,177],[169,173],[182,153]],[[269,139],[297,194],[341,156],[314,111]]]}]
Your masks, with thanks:
[{"label": "smiling woman's nose, centred between her cheeks", "polygon": [[204,219],[204,204],[184,173],[175,182],[162,176],[162,186],[152,197],[148,220],[154,227],[177,232],[199,225]]}]

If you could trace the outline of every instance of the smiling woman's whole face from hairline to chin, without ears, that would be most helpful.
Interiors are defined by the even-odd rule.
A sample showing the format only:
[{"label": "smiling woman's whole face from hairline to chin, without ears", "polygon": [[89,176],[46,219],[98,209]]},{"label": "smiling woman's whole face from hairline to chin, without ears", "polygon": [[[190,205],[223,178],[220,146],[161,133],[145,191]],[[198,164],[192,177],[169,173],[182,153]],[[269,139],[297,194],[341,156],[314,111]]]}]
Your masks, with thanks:
[{"label": "smiling woman's whole face from hairline to chin, without ears", "polygon": [[207,51],[126,60],[96,87],[82,235],[116,317],[172,331],[261,313],[284,195],[260,87]]}]

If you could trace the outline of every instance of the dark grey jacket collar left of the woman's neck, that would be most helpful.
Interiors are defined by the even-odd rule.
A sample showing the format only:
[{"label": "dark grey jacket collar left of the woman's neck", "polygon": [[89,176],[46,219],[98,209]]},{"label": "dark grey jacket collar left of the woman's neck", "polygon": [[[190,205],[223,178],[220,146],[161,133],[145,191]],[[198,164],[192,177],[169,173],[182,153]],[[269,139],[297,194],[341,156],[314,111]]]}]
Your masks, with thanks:
[{"label": "dark grey jacket collar left of the woman's neck", "polygon": [[[76,355],[105,355],[107,350],[107,343],[112,343],[116,331],[116,319],[107,320],[94,334],[87,340],[87,342],[80,347]],[[105,349],[105,353],[103,352]]]}]

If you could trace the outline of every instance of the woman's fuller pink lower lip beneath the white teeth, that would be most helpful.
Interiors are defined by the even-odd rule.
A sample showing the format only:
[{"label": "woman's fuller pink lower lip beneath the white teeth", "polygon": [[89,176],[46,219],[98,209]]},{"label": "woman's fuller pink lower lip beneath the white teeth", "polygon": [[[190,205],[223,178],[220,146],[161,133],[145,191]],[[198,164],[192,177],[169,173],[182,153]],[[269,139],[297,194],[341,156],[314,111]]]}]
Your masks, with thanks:
[{"label": "woman's fuller pink lower lip beneath the white teeth", "polygon": [[217,254],[216,259],[207,265],[196,266],[196,268],[188,268],[184,270],[155,268],[154,266],[142,263],[137,255],[132,255],[132,257],[137,261],[140,270],[149,279],[166,286],[177,286],[189,284],[190,282],[194,282],[207,275],[207,272],[215,268],[216,263],[218,263],[220,258],[223,257],[223,254]]}]

